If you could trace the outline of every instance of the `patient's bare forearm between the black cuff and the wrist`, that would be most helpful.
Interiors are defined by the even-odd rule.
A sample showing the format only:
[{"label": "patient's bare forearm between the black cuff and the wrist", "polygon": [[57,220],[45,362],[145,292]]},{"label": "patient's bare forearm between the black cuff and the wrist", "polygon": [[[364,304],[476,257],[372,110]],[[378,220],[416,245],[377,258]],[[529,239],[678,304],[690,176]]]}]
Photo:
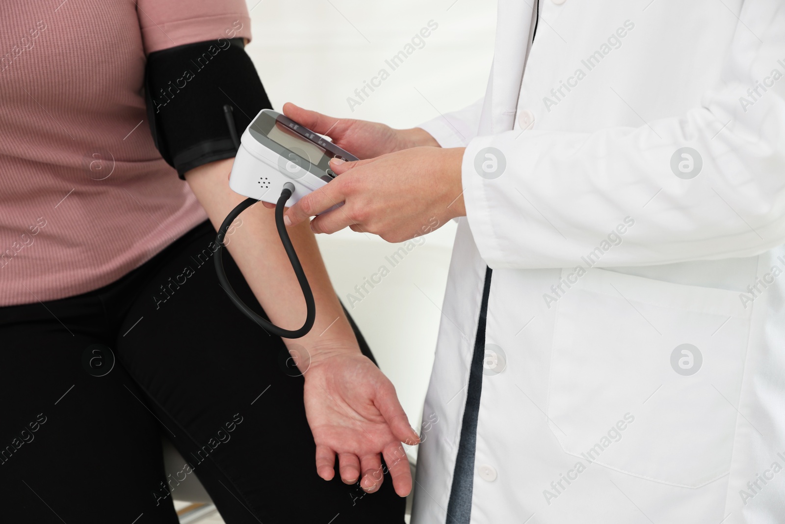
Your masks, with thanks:
[{"label": "patient's bare forearm between the black cuff and the wrist", "polygon": [[[219,160],[185,174],[188,185],[216,230],[229,211],[245,200],[244,196],[229,189],[232,163],[233,159]],[[225,240],[228,251],[270,321],[286,329],[299,328],[305,321],[305,299],[279,239],[274,210],[261,203],[249,207],[230,231],[231,235]],[[294,341],[284,339],[284,342],[305,346],[313,359],[339,350],[359,350],[309,225],[304,223],[289,228],[289,236],[311,284],[316,321],[308,335]],[[298,362],[298,365],[302,364]]]}]

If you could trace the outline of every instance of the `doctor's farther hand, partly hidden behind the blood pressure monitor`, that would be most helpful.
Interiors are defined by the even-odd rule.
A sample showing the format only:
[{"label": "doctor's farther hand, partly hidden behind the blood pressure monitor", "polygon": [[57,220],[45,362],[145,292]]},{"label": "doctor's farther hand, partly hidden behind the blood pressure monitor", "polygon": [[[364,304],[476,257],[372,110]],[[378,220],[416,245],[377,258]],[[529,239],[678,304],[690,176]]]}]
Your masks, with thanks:
[{"label": "doctor's farther hand, partly hidden behind the blood pressure monitor", "polygon": [[327,135],[335,145],[359,159],[374,158],[420,145],[439,146],[427,131],[418,127],[398,130],[383,123],[337,119],[298,108],[291,102],[283,104],[283,114],[315,133]]}]

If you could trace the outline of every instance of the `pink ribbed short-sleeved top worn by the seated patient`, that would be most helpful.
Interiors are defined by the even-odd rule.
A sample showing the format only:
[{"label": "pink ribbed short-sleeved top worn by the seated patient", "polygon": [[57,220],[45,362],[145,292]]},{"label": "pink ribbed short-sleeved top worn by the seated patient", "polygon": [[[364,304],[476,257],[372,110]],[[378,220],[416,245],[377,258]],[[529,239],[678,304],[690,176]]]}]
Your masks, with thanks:
[{"label": "pink ribbed short-sleeved top worn by the seated patient", "polygon": [[145,57],[250,38],[243,0],[2,0],[0,20],[0,306],[110,284],[206,219],[153,145]]}]

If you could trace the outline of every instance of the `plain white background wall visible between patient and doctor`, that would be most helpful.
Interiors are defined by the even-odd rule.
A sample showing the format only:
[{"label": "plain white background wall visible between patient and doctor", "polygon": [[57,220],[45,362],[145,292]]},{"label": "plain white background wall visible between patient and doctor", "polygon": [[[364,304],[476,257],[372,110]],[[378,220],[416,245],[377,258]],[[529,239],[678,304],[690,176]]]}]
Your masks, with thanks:
[{"label": "plain white background wall visible between patient and doctor", "polygon": [[[272,104],[412,127],[483,96],[496,24],[489,0],[247,0],[254,38],[246,50]],[[395,71],[385,64],[433,20],[422,49]],[[422,44],[421,44],[422,45]],[[381,68],[390,73],[359,106],[347,97]],[[368,91],[370,93],[370,91]],[[351,309],[417,428],[433,365],[455,223],[425,236],[395,267],[398,248],[346,229],[319,236],[338,295],[385,265],[390,273]]]}]

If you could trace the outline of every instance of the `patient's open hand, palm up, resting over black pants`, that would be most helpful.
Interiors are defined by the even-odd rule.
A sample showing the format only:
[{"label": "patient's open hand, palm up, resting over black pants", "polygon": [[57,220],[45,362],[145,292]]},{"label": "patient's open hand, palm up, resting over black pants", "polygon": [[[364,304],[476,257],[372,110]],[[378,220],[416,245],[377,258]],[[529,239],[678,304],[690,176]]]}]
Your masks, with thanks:
[{"label": "patient's open hand, palm up, resting over black pants", "polygon": [[384,478],[382,453],[396,493],[409,494],[411,470],[401,442],[414,445],[419,437],[409,426],[395,387],[368,357],[338,352],[312,361],[304,393],[319,477],[334,477],[337,454],[343,482],[359,479],[360,487],[373,493]]}]

